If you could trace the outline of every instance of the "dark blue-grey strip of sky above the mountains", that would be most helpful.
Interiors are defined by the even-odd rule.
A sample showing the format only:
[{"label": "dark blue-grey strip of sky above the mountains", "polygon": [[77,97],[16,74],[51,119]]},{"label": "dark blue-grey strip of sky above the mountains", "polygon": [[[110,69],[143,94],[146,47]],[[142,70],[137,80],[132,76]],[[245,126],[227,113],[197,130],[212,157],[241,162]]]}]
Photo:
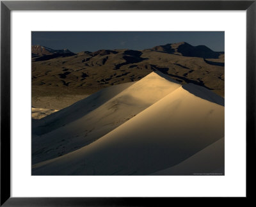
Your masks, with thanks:
[{"label": "dark blue-grey strip of sky above the mountains", "polygon": [[96,51],[99,49],[148,49],[167,43],[188,42],[205,45],[214,51],[224,51],[223,31],[35,31],[32,45],[51,49],[67,48],[72,52]]}]

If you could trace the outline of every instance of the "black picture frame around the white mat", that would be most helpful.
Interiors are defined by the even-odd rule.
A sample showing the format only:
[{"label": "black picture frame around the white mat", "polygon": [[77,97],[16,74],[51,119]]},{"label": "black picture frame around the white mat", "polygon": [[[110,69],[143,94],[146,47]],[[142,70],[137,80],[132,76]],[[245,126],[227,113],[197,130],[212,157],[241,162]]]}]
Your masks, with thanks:
[{"label": "black picture frame around the white mat", "polygon": [[[246,201],[253,199],[256,146],[255,0],[1,1],[1,206],[166,206],[164,203],[170,202],[170,199],[177,199],[174,197],[10,197],[10,11],[12,10],[246,10],[246,197],[241,197],[241,202],[244,202],[244,199]],[[198,203],[198,198],[187,199]]]}]

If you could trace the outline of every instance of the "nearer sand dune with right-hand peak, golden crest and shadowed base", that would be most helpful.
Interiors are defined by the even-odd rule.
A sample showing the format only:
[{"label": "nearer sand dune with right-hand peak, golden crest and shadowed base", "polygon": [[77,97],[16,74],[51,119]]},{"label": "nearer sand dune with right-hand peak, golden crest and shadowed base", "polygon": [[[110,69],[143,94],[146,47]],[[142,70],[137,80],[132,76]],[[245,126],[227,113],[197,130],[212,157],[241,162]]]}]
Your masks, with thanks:
[{"label": "nearer sand dune with right-hand peak, golden crest and shadowed base", "polygon": [[[141,83],[138,81],[136,84]],[[33,165],[33,174],[152,174],[181,164],[224,137],[223,98],[214,96],[215,102],[219,103],[216,104],[200,98],[211,98],[209,90],[200,89],[194,84],[189,84],[186,89],[177,85],[168,95],[163,95],[163,98],[97,141],[61,157]],[[196,91],[195,95],[193,91]],[[148,93],[148,90],[144,92]],[[148,95],[154,93],[150,91]],[[144,94],[143,98],[146,96]],[[140,97],[135,97],[140,100]],[[147,100],[140,101],[147,103]],[[132,100],[131,104],[138,102]],[[212,150],[212,153],[217,152],[218,148]],[[188,164],[185,162],[184,165]],[[175,173],[186,174],[184,167]],[[204,172],[191,173],[212,172],[205,169]]]}]

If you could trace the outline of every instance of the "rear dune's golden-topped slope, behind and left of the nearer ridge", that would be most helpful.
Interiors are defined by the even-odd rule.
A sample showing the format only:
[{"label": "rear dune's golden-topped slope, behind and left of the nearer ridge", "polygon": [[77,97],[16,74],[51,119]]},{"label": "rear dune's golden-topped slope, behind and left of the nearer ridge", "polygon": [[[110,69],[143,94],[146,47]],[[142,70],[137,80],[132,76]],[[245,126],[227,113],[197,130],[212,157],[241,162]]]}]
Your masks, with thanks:
[{"label": "rear dune's golden-topped slope, behind and left of the nearer ridge", "polygon": [[[33,164],[60,157],[90,144],[179,87],[180,84],[162,73],[152,72],[101,105],[97,103],[97,98],[94,98],[93,102],[90,103],[98,105],[94,110],[90,109],[90,105],[88,107],[88,105],[83,105],[83,101],[80,101],[73,104],[70,109],[63,109],[64,112],[61,110],[55,116],[45,118],[45,125],[49,127],[54,124],[52,119],[66,124],[33,139]],[[111,93],[111,89],[104,93],[104,96],[111,96],[106,95],[106,93]],[[91,100],[92,97],[86,99]],[[88,108],[91,110],[90,112],[83,112],[84,109],[88,110]],[[76,116],[74,114],[68,115],[72,112],[76,113]],[[81,116],[82,114],[84,115]],[[70,117],[73,119],[72,121],[68,119]],[[50,121],[47,122],[48,120]]]}]

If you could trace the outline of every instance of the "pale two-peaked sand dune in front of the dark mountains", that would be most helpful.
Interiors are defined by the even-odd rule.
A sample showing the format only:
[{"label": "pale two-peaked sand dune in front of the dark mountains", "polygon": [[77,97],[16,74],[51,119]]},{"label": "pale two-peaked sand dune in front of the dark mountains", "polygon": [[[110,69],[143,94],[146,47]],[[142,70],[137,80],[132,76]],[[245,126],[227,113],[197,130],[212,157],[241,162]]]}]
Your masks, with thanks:
[{"label": "pale two-peaked sand dune in front of the dark mountains", "polygon": [[[223,104],[223,98],[200,86],[180,86],[165,79],[161,73],[150,73],[144,80],[132,84],[100,105],[86,118],[80,118],[35,141],[46,146],[51,143],[46,140],[51,139],[54,143],[58,137],[70,137],[74,132],[82,133],[90,124],[99,127],[95,135],[102,133],[102,137],[96,141],[58,158],[51,159],[56,157],[56,150],[49,154],[41,148],[45,153],[38,151],[37,156],[34,154],[34,163],[46,161],[33,165],[33,174],[142,175],[161,173],[179,164],[181,167],[176,167],[170,174],[212,173],[214,169],[207,167],[195,167],[195,171],[188,171],[187,168],[195,162],[193,155],[198,160],[206,159],[203,164],[207,162],[204,153],[200,151],[205,149],[207,153],[218,153],[221,150],[222,144],[211,146],[224,137]],[[113,123],[104,126],[106,121],[108,123],[113,118],[120,119],[134,113],[138,114],[128,121],[121,121],[120,125],[114,124],[111,129],[109,126],[113,126]],[[73,142],[74,137],[68,139],[69,142],[63,144],[64,148]],[[78,139],[74,140],[78,143]],[[86,137],[81,137],[81,142],[84,143],[84,140]],[[191,162],[186,161],[189,158]],[[223,169],[222,162],[218,163]]]}]

